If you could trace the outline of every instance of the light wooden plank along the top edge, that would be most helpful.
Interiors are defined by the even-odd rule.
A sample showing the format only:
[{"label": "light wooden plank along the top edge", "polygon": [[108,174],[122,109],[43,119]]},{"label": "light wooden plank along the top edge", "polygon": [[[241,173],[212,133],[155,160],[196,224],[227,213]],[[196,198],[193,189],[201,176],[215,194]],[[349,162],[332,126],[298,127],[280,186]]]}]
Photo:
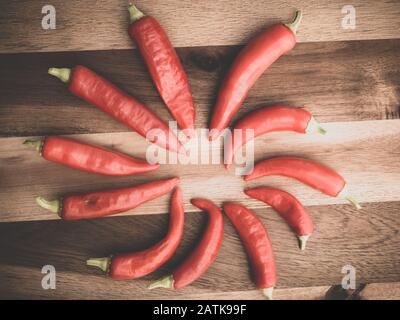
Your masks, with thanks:
[{"label": "light wooden plank along the top edge", "polygon": [[[127,35],[126,1],[79,2],[53,0],[55,30],[43,30],[39,0],[2,1],[0,52],[110,50],[131,48]],[[137,1],[154,15],[177,47],[242,44],[265,26],[290,21],[296,8],[303,10],[300,42],[398,38],[400,4],[397,0],[353,0],[354,29],[344,29],[342,8],[348,1],[329,0],[179,0]]]}]

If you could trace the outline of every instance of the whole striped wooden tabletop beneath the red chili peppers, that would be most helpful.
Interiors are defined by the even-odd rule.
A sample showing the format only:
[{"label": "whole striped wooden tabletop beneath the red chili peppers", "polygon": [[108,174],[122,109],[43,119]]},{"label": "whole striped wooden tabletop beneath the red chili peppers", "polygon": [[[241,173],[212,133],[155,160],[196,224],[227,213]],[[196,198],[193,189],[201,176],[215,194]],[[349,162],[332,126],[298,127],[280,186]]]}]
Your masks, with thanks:
[{"label": "whole striped wooden tabletop beneath the red chili peppers", "polygon": [[[315,225],[308,248],[298,250],[282,219],[244,196],[245,183],[222,165],[163,165],[128,178],[77,172],[25,148],[27,137],[72,135],[144,157],[137,134],[72,96],[47,75],[51,66],[87,65],[171,119],[126,33],[126,2],[53,0],[57,29],[41,29],[43,1],[0,4],[0,298],[46,299],[262,299],[250,281],[245,253],[226,223],[220,254],[188,288],[149,291],[194,248],[206,224],[189,200],[237,200],[265,223],[276,255],[277,299],[321,299],[340,285],[344,265],[357,271],[357,298],[400,297],[400,2],[354,0],[356,28],[343,29],[347,1],[156,1],[137,5],[156,16],[178,48],[205,128],[218,85],[241,45],[263,27],[304,11],[299,44],[266,72],[235,120],[257,107],[306,106],[328,129],[326,136],[271,134],[256,140],[256,160],[296,155],[341,172],[363,205],[357,212],[300,183],[265,178],[293,192]],[[219,148],[219,146],[217,146]],[[85,266],[88,257],[140,250],[167,229],[168,196],[124,215],[64,222],[41,210],[35,197],[98,190],[179,176],[186,222],[182,245],[159,271],[135,281],[114,281]],[[57,271],[56,290],[43,290],[43,265]],[[333,287],[332,287],[333,286]],[[336,289],[335,289],[336,288]],[[330,290],[329,290],[330,289]],[[335,290],[334,290],[335,289]],[[333,290],[333,291],[332,291]],[[336,290],[338,291],[338,290]],[[340,291],[340,290],[339,290]]]}]

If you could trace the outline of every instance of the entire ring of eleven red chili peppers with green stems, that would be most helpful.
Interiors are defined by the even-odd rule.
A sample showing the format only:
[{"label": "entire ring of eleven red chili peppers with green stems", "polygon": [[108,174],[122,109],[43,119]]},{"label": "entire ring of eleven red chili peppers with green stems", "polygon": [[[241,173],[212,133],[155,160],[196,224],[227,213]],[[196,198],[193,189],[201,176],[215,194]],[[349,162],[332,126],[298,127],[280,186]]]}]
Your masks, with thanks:
[{"label": "entire ring of eleven red chili peppers with green stems", "polygon": [[[129,12],[131,18],[129,35],[136,42],[148,66],[152,80],[167,108],[177,120],[179,127],[183,131],[186,130],[185,134],[190,138],[194,130],[195,108],[187,76],[179,57],[156,19],[145,16],[132,4],[129,6]],[[300,21],[301,12],[298,11],[293,23],[280,23],[267,28],[240,52],[219,91],[210,124],[210,141],[215,140],[220,135],[220,132],[229,125],[233,115],[241,107],[249,90],[261,74],[281,55],[294,48],[296,31]],[[276,50],[271,50],[273,47]],[[157,54],[161,51],[164,52],[164,56],[157,58]],[[157,69],[160,64],[164,66],[163,70]],[[248,72],[248,70],[251,70],[251,72]],[[77,66],[73,70],[50,68],[49,73],[63,82],[69,83],[69,89],[73,94],[97,106],[142,136],[146,136],[147,132],[155,128],[164,131],[164,133],[168,132],[165,122],[147,109],[145,105],[129,97],[106,79],[86,67]],[[168,74],[168,83],[160,77],[160,75],[165,76],[165,74]],[[105,101],[107,99],[104,100],[101,95],[97,96],[96,92],[91,89],[94,87],[108,91],[113,100],[119,101],[117,102],[119,105]],[[136,119],[141,120],[136,121]],[[146,122],[145,125],[144,122]],[[253,138],[272,131],[288,130],[298,133],[317,131],[325,134],[325,130],[316,123],[315,119],[307,111],[285,106],[263,108],[253,112],[244,117],[235,128],[243,131],[245,129],[254,129],[256,132]],[[41,141],[27,140],[24,144],[34,147],[47,160],[93,173],[129,175],[146,173],[157,168],[157,166],[146,167],[140,160],[113,153],[105,148],[82,144],[72,139],[53,138],[52,141],[56,142],[51,145],[51,143],[46,144],[46,139]],[[177,141],[177,144],[171,144],[171,141],[168,140],[159,141],[158,139],[154,139],[152,142],[166,149],[185,153],[183,145],[180,144],[178,139]],[[244,138],[242,142],[231,143],[231,149],[227,150],[228,163],[226,163],[226,167],[232,164],[235,151],[247,141]],[[59,145],[57,144],[64,144],[65,148],[58,148]],[[67,144],[68,147],[65,146]],[[45,147],[47,147],[47,152],[44,154]],[[65,153],[68,149],[70,152],[74,151],[74,154],[78,155],[78,157],[66,157]],[[113,163],[118,167],[118,173],[113,171],[115,167],[112,165],[110,166],[111,168],[101,166],[93,168],[87,163],[80,163],[79,165],[75,163],[77,161],[76,158],[85,153],[85,150],[94,154],[94,157],[118,158],[119,160]],[[81,157],[82,159],[86,158],[83,156]],[[347,194],[344,179],[333,170],[319,163],[288,157],[267,159],[256,164],[253,173],[245,176],[244,179],[248,181],[270,175],[288,176],[297,179],[327,195],[346,198],[356,208],[359,208],[359,204]],[[156,270],[177,249],[182,237],[184,219],[182,197],[181,191],[177,187],[178,183],[179,179],[175,178],[116,191],[107,190],[82,196],[69,196],[55,201],[46,201],[39,197],[37,202],[42,207],[58,213],[62,219],[77,220],[126,211],[175,189],[171,198],[170,231],[164,240],[142,252],[110,255],[105,258],[89,259],[87,261],[88,265],[101,268],[113,278],[134,279]],[[120,207],[117,206],[115,208],[114,206],[113,209],[102,208],[102,204],[99,204],[99,199],[102,197],[108,200],[106,205],[110,205],[119,195],[123,195],[125,199],[128,194],[134,192],[140,195],[147,192],[147,195],[141,199],[134,199],[129,203],[122,200],[119,203]],[[283,190],[268,187],[245,190],[245,193],[249,197],[263,201],[279,212],[297,234],[300,248],[302,250],[305,249],[306,241],[313,231],[313,224],[300,201]],[[205,199],[193,199],[192,204],[209,214],[209,225],[203,239],[175,272],[152,283],[148,287],[149,289],[157,287],[178,289],[189,285],[199,278],[215,260],[224,232],[222,211],[214,203]],[[271,299],[272,290],[276,284],[275,262],[271,241],[264,225],[252,210],[238,203],[225,203],[223,208],[248,252],[256,276],[257,286],[262,289],[268,299]],[[149,259],[153,260],[150,261]]]}]

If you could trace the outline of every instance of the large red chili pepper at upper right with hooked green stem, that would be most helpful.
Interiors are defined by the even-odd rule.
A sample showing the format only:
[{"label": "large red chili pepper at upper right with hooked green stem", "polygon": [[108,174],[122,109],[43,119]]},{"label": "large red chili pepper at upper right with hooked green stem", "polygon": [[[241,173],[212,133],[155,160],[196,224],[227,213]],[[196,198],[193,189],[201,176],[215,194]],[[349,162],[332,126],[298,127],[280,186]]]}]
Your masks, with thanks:
[{"label": "large red chili pepper at upper right with hooked green stem", "polygon": [[210,140],[217,139],[258,78],[296,45],[301,11],[291,24],[275,24],[254,38],[237,56],[219,91],[210,125]]}]

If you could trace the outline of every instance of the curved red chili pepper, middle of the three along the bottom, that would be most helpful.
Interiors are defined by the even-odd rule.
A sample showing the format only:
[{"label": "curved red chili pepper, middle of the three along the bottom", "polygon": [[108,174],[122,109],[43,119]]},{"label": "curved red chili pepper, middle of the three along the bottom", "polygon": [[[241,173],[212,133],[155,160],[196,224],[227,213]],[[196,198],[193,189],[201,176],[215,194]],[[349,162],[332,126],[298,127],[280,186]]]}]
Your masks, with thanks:
[{"label": "curved red chili pepper, middle of the three along the bottom", "polygon": [[208,212],[209,222],[207,230],[196,249],[194,249],[185,262],[172,275],[150,284],[148,289],[180,289],[186,287],[206,272],[217,257],[224,235],[224,219],[221,210],[214,203],[205,199],[192,199],[191,203],[199,209]]}]

